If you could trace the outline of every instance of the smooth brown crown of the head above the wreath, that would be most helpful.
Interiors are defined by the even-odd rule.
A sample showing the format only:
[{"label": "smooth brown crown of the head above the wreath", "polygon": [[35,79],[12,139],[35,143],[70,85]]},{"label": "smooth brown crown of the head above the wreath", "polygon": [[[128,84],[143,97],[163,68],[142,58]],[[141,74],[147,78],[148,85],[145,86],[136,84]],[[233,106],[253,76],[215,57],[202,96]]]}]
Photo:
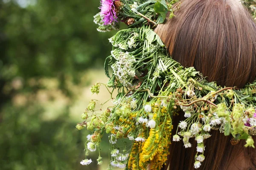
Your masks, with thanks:
[{"label": "smooth brown crown of the head above the wreath", "polygon": [[222,86],[256,76],[256,26],[239,0],[181,0],[176,17],[155,32],[171,56]]}]

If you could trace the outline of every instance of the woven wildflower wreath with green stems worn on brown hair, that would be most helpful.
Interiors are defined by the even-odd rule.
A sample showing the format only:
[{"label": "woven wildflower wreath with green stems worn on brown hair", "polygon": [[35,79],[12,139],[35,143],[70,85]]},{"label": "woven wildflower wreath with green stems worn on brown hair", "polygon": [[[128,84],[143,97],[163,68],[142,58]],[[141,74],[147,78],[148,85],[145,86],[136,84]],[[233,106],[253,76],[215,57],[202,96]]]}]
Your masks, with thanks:
[{"label": "woven wildflower wreath with green stems worn on brown hair", "polygon": [[[256,1],[242,3],[255,17]],[[244,139],[245,147],[254,147],[251,136],[256,135],[256,80],[242,89],[207,82],[195,68],[184,68],[173,60],[151,29],[164,22],[167,12],[174,17],[173,12],[179,8],[177,0],[101,1],[101,11],[94,17],[98,31],[118,29],[120,22],[129,28],[109,39],[113,50],[104,65],[108,83],[96,83],[90,89],[98,94],[100,85],[104,85],[113,105],[105,111],[96,110],[98,101],[92,100],[81,116],[84,121],[76,126],[92,131],[87,136],[86,157],[88,150],[100,151],[105,132],[110,142],[109,169],[141,170],[147,169],[148,164],[151,169],[160,169],[166,162],[171,140],[182,140],[187,148],[191,147],[192,138],[197,141],[194,167],[198,168],[205,159],[204,139],[211,136],[211,130],[231,134],[234,143]],[[118,91],[115,98],[114,89]],[[172,117],[180,111],[184,112],[184,121],[172,132]],[[171,133],[175,133],[172,139]],[[126,144],[127,139],[132,142],[131,147]],[[122,141],[121,146],[118,141]],[[102,164],[100,152],[97,161]],[[81,164],[91,162],[84,159]]]}]

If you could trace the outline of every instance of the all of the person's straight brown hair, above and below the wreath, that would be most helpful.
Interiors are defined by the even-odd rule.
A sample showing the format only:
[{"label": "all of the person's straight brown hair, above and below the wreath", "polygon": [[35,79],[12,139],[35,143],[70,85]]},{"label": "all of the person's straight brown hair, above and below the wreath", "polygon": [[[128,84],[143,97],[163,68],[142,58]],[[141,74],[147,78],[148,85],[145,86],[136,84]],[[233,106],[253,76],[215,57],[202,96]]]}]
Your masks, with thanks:
[{"label": "all of the person's straight brown hair, above and below the wreath", "polygon": [[[239,0],[182,0],[176,17],[158,25],[172,58],[222,86],[244,87],[256,76],[256,25]],[[173,118],[174,127],[183,114]],[[174,131],[176,131],[174,129]],[[201,170],[256,170],[256,150],[235,146],[231,137],[211,130],[206,139]],[[256,138],[254,136],[254,140]],[[170,145],[165,170],[193,169],[196,142],[185,149],[182,142]]]}]

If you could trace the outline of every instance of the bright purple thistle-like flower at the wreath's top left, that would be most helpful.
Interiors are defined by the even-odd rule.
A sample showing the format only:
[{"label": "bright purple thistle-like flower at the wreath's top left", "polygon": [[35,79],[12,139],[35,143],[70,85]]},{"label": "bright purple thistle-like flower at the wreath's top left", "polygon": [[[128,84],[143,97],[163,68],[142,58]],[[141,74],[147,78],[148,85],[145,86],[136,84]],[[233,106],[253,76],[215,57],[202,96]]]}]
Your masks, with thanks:
[{"label": "bright purple thistle-like flower at the wreath's top left", "polygon": [[[116,0],[119,1],[119,0]],[[103,16],[104,25],[111,24],[113,21],[117,21],[115,6],[115,0],[101,0],[100,14]]]}]

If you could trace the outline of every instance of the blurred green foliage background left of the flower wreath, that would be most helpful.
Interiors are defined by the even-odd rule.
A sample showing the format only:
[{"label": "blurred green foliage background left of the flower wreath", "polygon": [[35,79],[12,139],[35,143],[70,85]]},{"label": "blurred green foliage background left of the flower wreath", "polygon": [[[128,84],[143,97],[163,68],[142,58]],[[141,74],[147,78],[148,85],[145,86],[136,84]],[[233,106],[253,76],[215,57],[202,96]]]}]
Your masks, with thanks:
[{"label": "blurred green foliage background left of the flower wreath", "polygon": [[96,31],[98,7],[99,0],[0,0],[0,170],[106,169],[107,161],[80,164],[87,131],[75,128],[90,99],[108,98],[89,90],[107,81],[102,65],[115,33]]}]

